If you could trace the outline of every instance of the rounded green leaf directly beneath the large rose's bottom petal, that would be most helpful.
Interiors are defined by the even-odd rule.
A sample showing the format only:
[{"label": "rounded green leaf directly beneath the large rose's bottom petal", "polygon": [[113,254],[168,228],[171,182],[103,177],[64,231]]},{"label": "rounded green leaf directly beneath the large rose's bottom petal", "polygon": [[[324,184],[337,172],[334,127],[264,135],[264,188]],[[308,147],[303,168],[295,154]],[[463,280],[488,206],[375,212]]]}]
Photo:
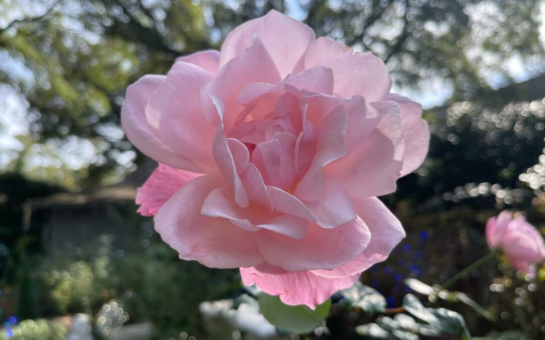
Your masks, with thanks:
[{"label": "rounded green leaf directly beneath the large rose's bottom petal", "polygon": [[294,333],[313,331],[324,323],[328,316],[331,300],[317,305],[315,310],[305,305],[284,305],[278,296],[261,293],[257,296],[259,311],[271,324],[278,329]]}]

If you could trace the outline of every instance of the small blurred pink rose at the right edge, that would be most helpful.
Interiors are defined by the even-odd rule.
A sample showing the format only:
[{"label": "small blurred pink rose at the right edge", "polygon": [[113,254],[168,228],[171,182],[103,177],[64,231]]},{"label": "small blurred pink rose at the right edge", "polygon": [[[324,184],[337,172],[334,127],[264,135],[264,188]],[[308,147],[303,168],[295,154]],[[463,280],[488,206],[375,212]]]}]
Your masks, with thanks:
[{"label": "small blurred pink rose at the right edge", "polygon": [[540,232],[524,217],[513,219],[508,211],[488,220],[486,241],[490,249],[501,249],[513,268],[530,277],[535,277],[530,264],[545,259],[545,243]]}]

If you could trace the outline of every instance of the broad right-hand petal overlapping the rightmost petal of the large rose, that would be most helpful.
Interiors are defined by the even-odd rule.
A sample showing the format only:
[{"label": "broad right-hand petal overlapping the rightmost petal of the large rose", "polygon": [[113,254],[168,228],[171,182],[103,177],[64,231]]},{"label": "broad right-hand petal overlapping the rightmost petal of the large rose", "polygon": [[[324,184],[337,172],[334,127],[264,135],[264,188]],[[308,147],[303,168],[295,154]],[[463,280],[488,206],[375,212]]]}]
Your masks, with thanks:
[{"label": "broad right-hand petal overlapping the rightmost petal of the large rose", "polygon": [[352,153],[324,168],[351,196],[381,196],[396,190],[405,150],[401,116],[397,103],[380,104],[387,107],[378,108],[381,116],[377,128]]}]

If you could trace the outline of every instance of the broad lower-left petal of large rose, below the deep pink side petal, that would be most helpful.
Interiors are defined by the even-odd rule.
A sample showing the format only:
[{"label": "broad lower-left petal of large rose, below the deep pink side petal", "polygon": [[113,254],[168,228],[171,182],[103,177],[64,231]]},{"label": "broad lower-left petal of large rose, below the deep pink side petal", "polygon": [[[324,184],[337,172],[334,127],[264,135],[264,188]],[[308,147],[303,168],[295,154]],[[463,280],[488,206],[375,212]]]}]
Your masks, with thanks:
[{"label": "broad lower-left petal of large rose, below the deep pink side petal", "polygon": [[229,220],[201,214],[210,191],[223,185],[219,175],[195,178],[178,190],[155,215],[155,230],[181,259],[210,268],[252,267],[263,262],[252,233]]}]

